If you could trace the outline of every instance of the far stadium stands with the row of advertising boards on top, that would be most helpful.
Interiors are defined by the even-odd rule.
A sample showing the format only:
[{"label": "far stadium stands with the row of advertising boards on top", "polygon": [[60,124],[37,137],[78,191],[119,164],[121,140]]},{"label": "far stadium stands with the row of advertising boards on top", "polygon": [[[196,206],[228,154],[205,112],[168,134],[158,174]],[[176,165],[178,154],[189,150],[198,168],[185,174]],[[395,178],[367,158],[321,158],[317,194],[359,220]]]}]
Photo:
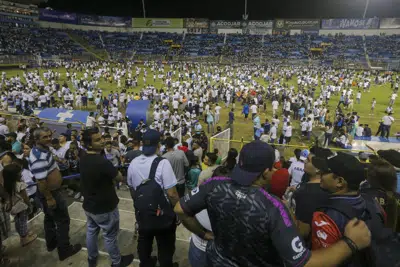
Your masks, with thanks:
[{"label": "far stadium stands with the row of advertising boards on top", "polygon": [[[96,16],[39,9],[34,5],[15,5],[7,1],[2,1],[0,8],[0,24],[3,27],[17,28],[22,33],[30,28],[52,29],[83,47],[81,51],[77,49],[76,53],[68,55],[57,52],[19,55],[6,51],[0,56],[3,64],[42,64],[43,61],[61,59],[184,60],[225,64],[276,61],[280,64],[400,69],[399,46],[396,46],[400,42],[400,18],[228,21]],[[332,37],[337,35],[353,37]],[[376,40],[377,36],[382,35],[390,36],[386,37],[389,40]],[[283,39],[276,36],[282,36]],[[97,44],[92,39],[98,39]],[[116,47],[113,40],[124,45]],[[382,41],[394,44],[393,50],[396,51],[370,48]],[[158,47],[154,47],[157,42],[160,42]],[[283,47],[291,44],[299,46],[276,52],[277,42]],[[304,42],[306,45],[302,44]],[[354,45],[344,44],[346,42],[353,42]],[[213,45],[207,45],[209,43]]]}]

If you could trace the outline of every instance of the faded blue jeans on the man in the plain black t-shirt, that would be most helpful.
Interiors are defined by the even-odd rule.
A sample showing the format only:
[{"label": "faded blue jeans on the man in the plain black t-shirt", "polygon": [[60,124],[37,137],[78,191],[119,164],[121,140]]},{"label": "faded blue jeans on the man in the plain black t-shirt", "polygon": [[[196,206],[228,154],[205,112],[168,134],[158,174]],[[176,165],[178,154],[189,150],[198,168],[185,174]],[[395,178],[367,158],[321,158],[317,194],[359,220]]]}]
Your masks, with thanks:
[{"label": "faded blue jeans on the man in the plain black t-shirt", "polygon": [[86,245],[88,257],[90,260],[96,260],[99,255],[97,246],[100,229],[103,231],[104,246],[110,255],[113,265],[119,265],[121,262],[121,253],[118,248],[119,232],[119,211],[115,210],[109,213],[92,214],[85,211],[87,217]]}]

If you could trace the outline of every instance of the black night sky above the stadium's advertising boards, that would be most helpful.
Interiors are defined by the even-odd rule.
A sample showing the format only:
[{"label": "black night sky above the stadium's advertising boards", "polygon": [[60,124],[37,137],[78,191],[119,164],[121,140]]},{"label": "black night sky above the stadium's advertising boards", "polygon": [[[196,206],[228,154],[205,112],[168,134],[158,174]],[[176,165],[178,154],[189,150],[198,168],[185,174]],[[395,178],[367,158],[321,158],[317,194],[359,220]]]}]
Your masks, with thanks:
[{"label": "black night sky above the stadium's advertising boards", "polygon": [[[147,17],[239,20],[245,0],[144,0]],[[359,18],[367,0],[248,0],[249,20]],[[143,17],[141,0],[49,0],[53,9],[85,14]],[[367,17],[399,17],[400,0],[370,0]]]}]

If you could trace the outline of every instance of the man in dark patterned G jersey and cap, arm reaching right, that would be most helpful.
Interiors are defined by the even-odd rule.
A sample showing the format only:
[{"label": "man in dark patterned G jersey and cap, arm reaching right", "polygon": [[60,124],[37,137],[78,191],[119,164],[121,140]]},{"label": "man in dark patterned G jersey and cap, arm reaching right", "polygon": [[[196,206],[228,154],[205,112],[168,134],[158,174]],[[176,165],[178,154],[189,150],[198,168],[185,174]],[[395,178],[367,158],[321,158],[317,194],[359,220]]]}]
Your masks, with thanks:
[{"label": "man in dark patterned G jersey and cap, arm reaching right", "polygon": [[[243,147],[231,178],[210,178],[176,204],[183,225],[209,240],[207,266],[331,267],[351,256],[352,242],[356,249],[369,245],[368,228],[354,219],[346,226],[342,241],[326,250],[308,250],[286,206],[264,189],[272,178],[274,162],[274,149],[253,141]],[[195,218],[204,209],[212,232]]]}]

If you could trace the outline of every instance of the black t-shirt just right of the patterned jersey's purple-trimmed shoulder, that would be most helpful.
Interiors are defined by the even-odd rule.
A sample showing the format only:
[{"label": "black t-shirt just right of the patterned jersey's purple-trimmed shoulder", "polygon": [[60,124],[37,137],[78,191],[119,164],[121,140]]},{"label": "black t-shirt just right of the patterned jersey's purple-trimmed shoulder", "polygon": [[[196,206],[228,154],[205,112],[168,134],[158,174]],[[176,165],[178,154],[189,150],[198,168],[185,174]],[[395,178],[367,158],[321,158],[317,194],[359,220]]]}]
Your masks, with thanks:
[{"label": "black t-shirt just right of the patterned jersey's purple-trimmed shoulder", "polygon": [[329,194],[322,190],[319,183],[304,183],[293,193],[296,218],[311,224],[313,213],[328,199]]}]

